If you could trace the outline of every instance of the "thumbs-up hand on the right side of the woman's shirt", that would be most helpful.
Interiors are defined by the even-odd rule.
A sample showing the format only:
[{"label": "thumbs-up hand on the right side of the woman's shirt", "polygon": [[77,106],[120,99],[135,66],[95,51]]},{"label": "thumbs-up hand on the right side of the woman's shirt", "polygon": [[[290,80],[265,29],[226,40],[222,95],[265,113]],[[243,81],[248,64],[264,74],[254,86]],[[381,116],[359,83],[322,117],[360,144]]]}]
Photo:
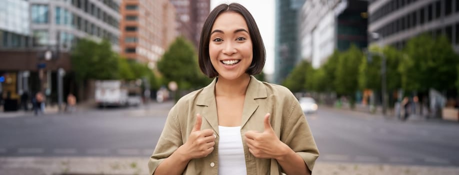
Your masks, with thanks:
[{"label": "thumbs-up hand on the right side of the woman's shirt", "polygon": [[[264,130],[256,132],[249,130],[245,132],[245,142],[248,146],[248,151],[257,158],[278,158],[283,155],[283,150],[289,148],[288,145],[280,141],[275,135],[274,129],[269,122],[269,113],[264,115]],[[285,147],[286,146],[286,147]]]}]

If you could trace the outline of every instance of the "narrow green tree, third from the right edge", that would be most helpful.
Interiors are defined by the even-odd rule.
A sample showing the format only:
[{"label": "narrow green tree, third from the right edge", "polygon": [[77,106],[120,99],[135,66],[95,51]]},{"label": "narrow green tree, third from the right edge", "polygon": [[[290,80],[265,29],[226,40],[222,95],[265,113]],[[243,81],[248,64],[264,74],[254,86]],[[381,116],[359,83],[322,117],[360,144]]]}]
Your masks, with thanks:
[{"label": "narrow green tree, third from the right edge", "polygon": [[349,96],[351,107],[355,102],[354,93],[358,90],[358,73],[362,57],[362,52],[355,45],[351,45],[348,50],[339,55],[336,66],[334,81],[336,93]]}]

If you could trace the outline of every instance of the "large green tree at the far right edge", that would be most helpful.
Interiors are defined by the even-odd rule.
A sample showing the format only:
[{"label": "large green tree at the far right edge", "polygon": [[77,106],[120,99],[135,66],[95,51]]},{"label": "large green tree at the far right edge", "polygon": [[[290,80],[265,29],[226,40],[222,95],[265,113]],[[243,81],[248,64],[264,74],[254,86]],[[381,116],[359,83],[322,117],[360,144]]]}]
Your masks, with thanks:
[{"label": "large green tree at the far right edge", "polygon": [[404,52],[399,65],[403,89],[426,92],[454,87],[459,58],[446,36],[418,35],[408,40]]}]

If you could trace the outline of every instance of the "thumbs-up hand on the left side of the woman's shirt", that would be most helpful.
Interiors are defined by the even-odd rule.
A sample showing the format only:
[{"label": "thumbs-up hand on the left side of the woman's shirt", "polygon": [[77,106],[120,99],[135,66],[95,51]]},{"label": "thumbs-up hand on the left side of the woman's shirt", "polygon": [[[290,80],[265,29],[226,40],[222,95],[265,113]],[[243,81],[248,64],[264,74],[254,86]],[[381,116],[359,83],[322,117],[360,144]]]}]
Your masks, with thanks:
[{"label": "thumbs-up hand on the left side of the woman's shirt", "polygon": [[189,134],[188,140],[183,144],[184,155],[189,159],[201,158],[207,156],[213,150],[215,145],[215,135],[212,129],[201,130],[202,117],[196,114],[196,122]]}]

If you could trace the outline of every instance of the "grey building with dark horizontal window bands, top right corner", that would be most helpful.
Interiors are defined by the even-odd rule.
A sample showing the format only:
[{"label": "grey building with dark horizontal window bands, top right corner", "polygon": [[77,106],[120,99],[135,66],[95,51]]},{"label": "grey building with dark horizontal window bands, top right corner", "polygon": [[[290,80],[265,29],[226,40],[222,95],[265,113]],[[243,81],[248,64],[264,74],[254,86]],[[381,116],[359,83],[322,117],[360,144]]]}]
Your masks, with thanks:
[{"label": "grey building with dark horizontal window bands, top right corner", "polygon": [[371,43],[402,48],[421,33],[446,34],[459,52],[459,0],[370,0],[369,32],[380,36]]}]

